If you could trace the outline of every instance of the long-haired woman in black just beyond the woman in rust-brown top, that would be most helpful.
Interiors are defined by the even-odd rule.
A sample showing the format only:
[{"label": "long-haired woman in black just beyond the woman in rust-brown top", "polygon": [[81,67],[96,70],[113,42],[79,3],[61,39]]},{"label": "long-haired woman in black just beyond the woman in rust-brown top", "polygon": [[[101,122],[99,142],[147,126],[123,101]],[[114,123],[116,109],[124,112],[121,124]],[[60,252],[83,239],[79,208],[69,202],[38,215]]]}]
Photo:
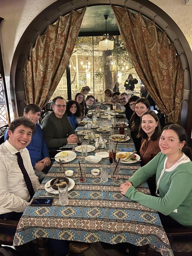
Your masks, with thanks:
[{"label": "long-haired woman in black just beyond the woman in rust-brown top", "polygon": [[140,98],[135,103],[135,111],[131,117],[129,128],[131,129],[131,136],[135,144],[137,152],[140,151],[141,138],[138,137],[141,116],[149,110],[149,101],[146,98]]}]

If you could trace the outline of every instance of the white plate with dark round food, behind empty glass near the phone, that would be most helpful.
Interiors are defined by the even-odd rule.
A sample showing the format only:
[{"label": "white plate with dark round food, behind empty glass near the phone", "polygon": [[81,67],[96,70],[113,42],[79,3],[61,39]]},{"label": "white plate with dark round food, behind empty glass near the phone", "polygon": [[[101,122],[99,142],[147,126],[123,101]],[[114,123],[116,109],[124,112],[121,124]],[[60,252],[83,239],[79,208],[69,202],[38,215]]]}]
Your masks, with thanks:
[{"label": "white plate with dark round food, behind empty glass near the phone", "polygon": [[[68,182],[66,179],[68,179]],[[58,185],[61,183],[64,184],[64,182],[68,183],[68,191],[70,191],[75,186],[75,181],[73,179],[68,178],[68,177],[57,177],[57,178],[51,179],[51,180],[47,181],[47,183],[45,183],[45,190],[51,194],[58,194]]]}]

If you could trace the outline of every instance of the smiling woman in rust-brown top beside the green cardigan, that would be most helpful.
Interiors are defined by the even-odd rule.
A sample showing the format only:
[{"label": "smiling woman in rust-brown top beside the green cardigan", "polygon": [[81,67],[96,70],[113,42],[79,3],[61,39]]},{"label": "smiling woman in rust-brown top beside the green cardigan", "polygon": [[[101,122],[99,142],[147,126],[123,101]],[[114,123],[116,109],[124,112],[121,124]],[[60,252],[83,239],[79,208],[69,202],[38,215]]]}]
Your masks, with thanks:
[{"label": "smiling woman in rust-brown top beside the green cardigan", "polygon": [[139,137],[142,137],[140,156],[141,165],[147,164],[160,152],[159,139],[161,128],[159,118],[154,111],[147,111],[141,118]]}]

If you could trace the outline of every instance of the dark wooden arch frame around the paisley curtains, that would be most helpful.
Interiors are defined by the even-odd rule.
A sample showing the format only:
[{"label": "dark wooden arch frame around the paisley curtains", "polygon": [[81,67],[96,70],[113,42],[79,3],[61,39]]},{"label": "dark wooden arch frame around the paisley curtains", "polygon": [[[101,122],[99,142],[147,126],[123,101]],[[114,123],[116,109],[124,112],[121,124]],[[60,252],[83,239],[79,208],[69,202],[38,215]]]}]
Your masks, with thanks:
[{"label": "dark wooden arch frame around the paisley curtains", "polygon": [[[98,5],[97,0],[92,0],[91,5],[84,0],[79,0],[77,2],[58,0],[44,9],[44,11],[32,21],[23,33],[13,56],[10,75],[10,90],[15,116],[18,114],[22,115],[23,113],[24,103],[22,100],[25,99],[25,95],[22,70],[25,60],[29,55],[30,47],[35,45],[37,36],[43,34],[47,29],[48,24],[54,23],[58,19],[59,15],[67,15],[72,8],[79,9],[84,7],[85,4],[88,4],[88,8],[89,6]],[[124,6],[124,1],[116,0],[112,4]],[[100,1],[100,5],[109,5],[109,2],[102,0]],[[177,52],[181,54],[182,66],[185,70],[184,99],[186,99],[186,101],[182,105],[180,123],[185,127],[188,135],[191,135],[192,123],[188,122],[190,119],[188,113],[190,113],[190,109],[192,109],[192,101],[190,100],[192,97],[192,52],[187,40],[171,17],[150,1],[132,0],[127,1],[125,6],[133,11],[141,12],[142,15],[149,19],[153,19],[157,26],[167,33],[169,39],[174,42]]]}]

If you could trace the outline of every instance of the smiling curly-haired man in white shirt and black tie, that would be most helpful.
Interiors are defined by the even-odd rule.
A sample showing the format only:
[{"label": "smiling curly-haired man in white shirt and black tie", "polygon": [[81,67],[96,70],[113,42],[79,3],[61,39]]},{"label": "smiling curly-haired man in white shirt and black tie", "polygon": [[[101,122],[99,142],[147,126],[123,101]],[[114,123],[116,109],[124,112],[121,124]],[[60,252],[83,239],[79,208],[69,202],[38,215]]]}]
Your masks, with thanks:
[{"label": "smiling curly-haired man in white shirt and black tie", "polygon": [[25,175],[32,184],[32,193],[40,183],[33,170],[28,149],[36,126],[29,119],[20,117],[11,122],[8,139],[0,145],[0,219],[20,219],[32,195],[17,161],[17,152],[23,159]]}]

